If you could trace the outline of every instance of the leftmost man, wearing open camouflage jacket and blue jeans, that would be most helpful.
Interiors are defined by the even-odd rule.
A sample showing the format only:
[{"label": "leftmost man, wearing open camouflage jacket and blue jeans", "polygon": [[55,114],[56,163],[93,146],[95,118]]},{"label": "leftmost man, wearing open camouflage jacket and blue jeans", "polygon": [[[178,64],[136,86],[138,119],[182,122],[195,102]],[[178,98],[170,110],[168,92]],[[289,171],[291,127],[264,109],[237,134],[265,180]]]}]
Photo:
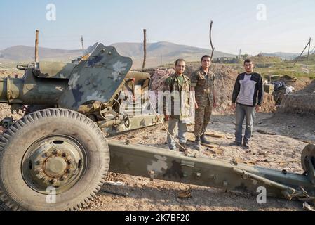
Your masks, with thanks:
[{"label": "leftmost man, wearing open camouflage jacket and blue jeans", "polygon": [[183,75],[185,70],[185,60],[179,59],[175,63],[175,74],[170,75],[164,84],[164,103],[165,117],[168,120],[168,148],[175,150],[175,141],[170,135],[174,136],[174,129],[178,124],[178,137],[180,139],[180,151],[186,150],[187,132],[186,119],[189,117],[189,91],[190,79]]}]

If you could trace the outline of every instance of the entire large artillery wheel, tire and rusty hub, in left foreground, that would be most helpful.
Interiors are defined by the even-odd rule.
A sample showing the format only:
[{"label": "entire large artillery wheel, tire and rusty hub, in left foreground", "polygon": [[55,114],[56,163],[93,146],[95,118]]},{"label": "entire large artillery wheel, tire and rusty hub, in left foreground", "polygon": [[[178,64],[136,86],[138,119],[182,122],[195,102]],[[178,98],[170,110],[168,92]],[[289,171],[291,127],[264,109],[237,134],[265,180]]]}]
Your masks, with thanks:
[{"label": "entire large artillery wheel, tire and rusty hub, in left foreground", "polygon": [[39,110],[0,138],[0,199],[13,210],[77,210],[98,193],[109,148],[98,126],[72,110]]}]

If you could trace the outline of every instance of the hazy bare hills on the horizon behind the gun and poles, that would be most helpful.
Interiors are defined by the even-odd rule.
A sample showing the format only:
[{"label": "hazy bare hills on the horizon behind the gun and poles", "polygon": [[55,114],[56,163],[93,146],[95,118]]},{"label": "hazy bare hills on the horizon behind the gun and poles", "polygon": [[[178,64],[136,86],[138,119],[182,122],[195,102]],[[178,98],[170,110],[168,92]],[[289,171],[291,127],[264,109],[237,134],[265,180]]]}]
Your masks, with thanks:
[{"label": "hazy bare hills on the horizon behind the gun and poles", "polygon": [[[143,49],[140,43],[116,43],[112,44],[122,56],[133,59],[133,68],[140,68],[143,60]],[[170,42],[157,42],[147,44],[147,67],[171,63],[177,58],[187,61],[200,60],[201,56],[210,54],[209,49],[201,49],[193,46],[173,44]],[[48,49],[39,47],[39,60],[67,61],[82,55],[82,51],[65,49]],[[229,53],[215,51],[214,58],[234,57]],[[34,60],[34,47],[12,46],[0,51],[0,62],[32,62]]]}]

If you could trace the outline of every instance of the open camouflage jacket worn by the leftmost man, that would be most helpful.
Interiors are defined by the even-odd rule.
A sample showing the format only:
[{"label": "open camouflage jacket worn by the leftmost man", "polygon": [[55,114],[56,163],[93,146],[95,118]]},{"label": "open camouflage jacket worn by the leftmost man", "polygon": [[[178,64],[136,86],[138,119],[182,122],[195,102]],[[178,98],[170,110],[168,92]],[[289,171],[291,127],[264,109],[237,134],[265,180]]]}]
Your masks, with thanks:
[{"label": "open camouflage jacket worn by the leftmost man", "polygon": [[164,82],[164,113],[174,119],[190,117],[190,79],[183,76],[182,85],[178,82],[177,75],[170,75]]}]

